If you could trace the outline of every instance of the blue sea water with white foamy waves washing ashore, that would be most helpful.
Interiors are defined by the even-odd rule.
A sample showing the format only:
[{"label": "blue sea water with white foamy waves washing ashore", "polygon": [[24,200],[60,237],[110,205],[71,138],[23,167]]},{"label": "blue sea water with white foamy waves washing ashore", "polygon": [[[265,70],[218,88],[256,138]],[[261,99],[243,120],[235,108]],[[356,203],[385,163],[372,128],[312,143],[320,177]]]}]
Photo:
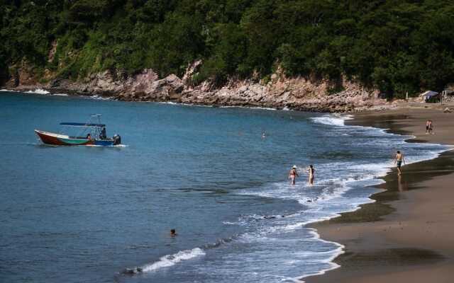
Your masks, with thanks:
[{"label": "blue sea water with white foamy waves washing ashore", "polygon": [[[121,146],[33,132],[93,113]],[[370,202],[396,150],[409,163],[445,150],[345,119],[0,92],[0,282],[292,282],[335,268],[342,246],[305,225]]]}]

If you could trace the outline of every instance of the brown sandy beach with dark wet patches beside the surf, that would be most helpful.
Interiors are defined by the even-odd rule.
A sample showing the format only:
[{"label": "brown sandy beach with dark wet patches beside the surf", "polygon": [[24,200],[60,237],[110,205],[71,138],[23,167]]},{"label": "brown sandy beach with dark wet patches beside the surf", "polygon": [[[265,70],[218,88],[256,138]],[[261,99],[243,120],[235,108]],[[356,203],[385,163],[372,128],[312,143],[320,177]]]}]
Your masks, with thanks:
[{"label": "brown sandy beach with dark wet patches beside the surf", "polygon": [[[447,107],[453,110],[454,103],[408,103],[353,113],[348,123],[414,136],[409,142],[454,145],[454,112],[444,112]],[[426,134],[428,119],[433,134]],[[312,225],[321,238],[343,244],[345,253],[335,260],[341,267],[301,280],[454,282],[454,151],[405,165],[400,176],[394,164],[389,166],[392,171],[377,186],[384,191],[371,197],[376,202]]]}]

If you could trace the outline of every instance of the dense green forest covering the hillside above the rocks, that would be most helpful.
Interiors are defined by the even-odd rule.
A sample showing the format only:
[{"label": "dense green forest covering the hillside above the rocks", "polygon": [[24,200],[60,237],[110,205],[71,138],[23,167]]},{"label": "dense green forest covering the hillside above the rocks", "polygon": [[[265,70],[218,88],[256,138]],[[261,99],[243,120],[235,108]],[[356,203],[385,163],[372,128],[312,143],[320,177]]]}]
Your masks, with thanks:
[{"label": "dense green forest covering the hillside above the rocks", "polygon": [[[27,62],[83,79],[151,68],[194,81],[341,75],[389,96],[454,81],[449,0],[33,0],[0,2],[0,79]],[[57,43],[55,56],[49,57]]]}]

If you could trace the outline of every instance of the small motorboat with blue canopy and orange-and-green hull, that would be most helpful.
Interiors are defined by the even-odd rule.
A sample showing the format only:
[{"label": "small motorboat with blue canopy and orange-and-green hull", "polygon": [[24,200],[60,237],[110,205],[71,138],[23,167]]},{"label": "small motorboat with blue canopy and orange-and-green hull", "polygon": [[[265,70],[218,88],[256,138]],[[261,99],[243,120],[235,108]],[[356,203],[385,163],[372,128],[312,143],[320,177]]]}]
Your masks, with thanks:
[{"label": "small motorboat with blue canopy and orange-and-green hull", "polygon": [[[35,129],[45,144],[58,146],[116,146],[121,144],[121,137],[114,134],[106,137],[106,125],[101,124],[101,114],[90,115],[86,123],[62,122],[60,133],[45,132]],[[70,135],[74,132],[74,135]]]}]

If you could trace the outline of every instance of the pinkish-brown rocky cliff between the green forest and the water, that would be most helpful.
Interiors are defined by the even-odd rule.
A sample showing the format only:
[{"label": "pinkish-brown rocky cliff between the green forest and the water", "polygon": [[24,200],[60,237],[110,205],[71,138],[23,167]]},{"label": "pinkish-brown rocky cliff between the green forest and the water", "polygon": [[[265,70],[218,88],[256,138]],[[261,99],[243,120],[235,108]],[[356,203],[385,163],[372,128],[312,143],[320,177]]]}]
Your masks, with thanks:
[{"label": "pinkish-brown rocky cliff between the green forest and the water", "polygon": [[[121,71],[103,71],[83,81],[74,82],[70,79],[57,78],[40,87],[51,93],[96,95],[122,101],[171,101],[196,105],[247,106],[314,112],[392,108],[392,103],[387,103],[381,98],[379,91],[367,89],[355,81],[343,79],[333,84],[330,81],[316,81],[301,76],[287,78],[280,69],[272,74],[269,81],[232,78],[221,87],[211,81],[194,85],[192,75],[196,74],[201,64],[201,61],[189,64],[182,79],[175,74],[160,78],[152,69],[145,69],[140,74],[130,76]],[[17,86],[16,89],[24,90],[36,86],[24,74],[15,80],[9,82],[6,87]]]}]

